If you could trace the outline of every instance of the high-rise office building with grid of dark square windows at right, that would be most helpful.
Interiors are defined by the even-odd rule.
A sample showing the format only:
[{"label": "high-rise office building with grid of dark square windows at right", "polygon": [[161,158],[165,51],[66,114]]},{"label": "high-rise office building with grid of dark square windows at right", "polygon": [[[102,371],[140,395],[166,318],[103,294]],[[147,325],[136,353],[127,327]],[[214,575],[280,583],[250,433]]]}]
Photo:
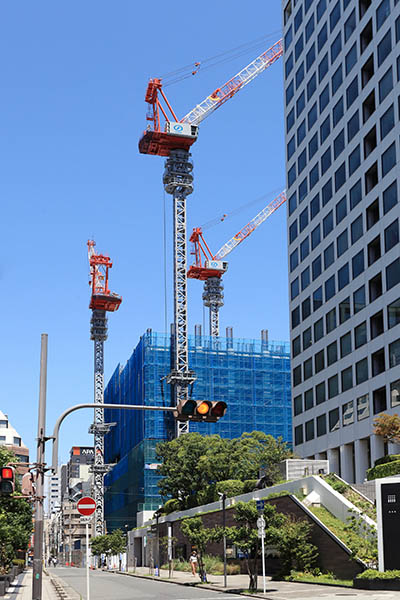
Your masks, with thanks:
[{"label": "high-rise office building with grid of dark square windows at right", "polygon": [[362,481],[400,410],[400,3],[282,10],[294,450]]}]

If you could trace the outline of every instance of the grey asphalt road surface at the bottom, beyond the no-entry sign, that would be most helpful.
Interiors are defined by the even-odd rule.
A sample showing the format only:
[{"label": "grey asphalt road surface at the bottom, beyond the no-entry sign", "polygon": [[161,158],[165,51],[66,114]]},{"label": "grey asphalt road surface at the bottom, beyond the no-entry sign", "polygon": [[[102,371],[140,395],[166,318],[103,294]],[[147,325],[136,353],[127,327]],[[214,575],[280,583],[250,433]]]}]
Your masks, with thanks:
[{"label": "grey asphalt road surface at the bottom, beyond the no-entry sign", "polygon": [[[64,579],[86,599],[86,570],[57,567],[48,569]],[[90,571],[91,600],[238,600],[237,595],[161,583],[151,579],[128,577],[104,571]]]}]

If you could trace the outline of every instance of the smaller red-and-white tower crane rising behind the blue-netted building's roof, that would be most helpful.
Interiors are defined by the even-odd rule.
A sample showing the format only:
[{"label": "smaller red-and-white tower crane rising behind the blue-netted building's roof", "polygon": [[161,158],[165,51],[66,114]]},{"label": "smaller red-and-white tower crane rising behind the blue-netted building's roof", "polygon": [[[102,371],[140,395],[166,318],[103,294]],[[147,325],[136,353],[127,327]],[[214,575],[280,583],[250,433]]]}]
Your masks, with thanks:
[{"label": "smaller red-and-white tower crane rising behind the blue-netted building's roof", "polygon": [[222,276],[228,270],[228,263],[224,260],[232,250],[257,229],[269,216],[272,215],[284,202],[286,194],[282,192],[272,202],[269,202],[245,227],[226,242],[216,254],[212,254],[208,247],[201,227],[195,227],[190,236],[193,243],[192,254],[195,264],[191,265],[187,276],[190,279],[204,281],[203,302],[208,307],[210,314],[210,335],[219,336],[219,309],[224,305],[224,286]]}]

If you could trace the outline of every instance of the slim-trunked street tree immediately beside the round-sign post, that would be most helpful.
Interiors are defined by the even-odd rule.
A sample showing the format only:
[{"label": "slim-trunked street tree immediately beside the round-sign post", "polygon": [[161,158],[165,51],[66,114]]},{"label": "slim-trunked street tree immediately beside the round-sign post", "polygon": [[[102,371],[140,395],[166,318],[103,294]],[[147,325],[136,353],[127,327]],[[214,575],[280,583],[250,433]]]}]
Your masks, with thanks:
[{"label": "slim-trunked street tree immediately beside the round-sign post", "polygon": [[[266,504],[264,507],[265,544],[275,544],[279,537],[279,527],[283,516],[276,512],[275,506]],[[249,591],[257,590],[257,560],[260,556],[261,540],[257,534],[257,519],[259,517],[256,503],[238,502],[235,506],[234,527],[228,527],[227,537],[244,554],[247,573],[249,575]]]}]

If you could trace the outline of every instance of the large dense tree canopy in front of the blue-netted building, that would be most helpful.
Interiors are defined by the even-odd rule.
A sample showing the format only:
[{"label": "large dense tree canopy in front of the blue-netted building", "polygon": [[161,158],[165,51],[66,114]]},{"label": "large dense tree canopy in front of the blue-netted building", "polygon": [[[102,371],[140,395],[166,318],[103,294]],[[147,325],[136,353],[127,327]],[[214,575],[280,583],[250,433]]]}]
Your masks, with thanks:
[{"label": "large dense tree canopy in front of the blue-netted building", "polygon": [[182,435],[158,444],[160,494],[175,498],[181,509],[212,502],[216,484],[226,480],[257,479],[261,468],[274,482],[280,477],[277,464],[292,456],[281,438],[261,431],[243,433],[233,440],[200,433]]}]

